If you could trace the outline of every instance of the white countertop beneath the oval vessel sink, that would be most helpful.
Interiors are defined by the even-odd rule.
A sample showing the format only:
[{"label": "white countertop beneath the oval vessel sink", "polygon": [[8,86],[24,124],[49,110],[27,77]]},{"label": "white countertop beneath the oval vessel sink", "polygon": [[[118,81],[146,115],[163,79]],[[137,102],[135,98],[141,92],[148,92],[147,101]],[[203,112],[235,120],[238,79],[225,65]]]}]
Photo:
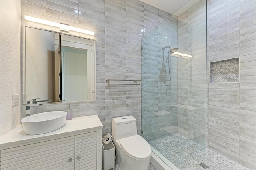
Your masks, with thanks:
[{"label": "white countertop beneath the oval vessel sink", "polygon": [[62,128],[38,135],[25,134],[22,125],[19,125],[0,137],[0,149],[16,147],[21,143],[40,142],[40,140],[47,140],[48,138],[71,136],[72,134],[93,131],[102,127],[103,125],[98,115],[72,118],[71,120],[66,120],[66,124]]}]

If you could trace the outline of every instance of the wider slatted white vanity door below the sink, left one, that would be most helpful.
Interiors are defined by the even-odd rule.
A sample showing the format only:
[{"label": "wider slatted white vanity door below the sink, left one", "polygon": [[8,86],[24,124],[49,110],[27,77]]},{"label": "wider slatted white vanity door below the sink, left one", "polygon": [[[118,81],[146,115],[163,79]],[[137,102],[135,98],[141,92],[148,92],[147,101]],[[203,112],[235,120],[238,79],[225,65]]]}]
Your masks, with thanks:
[{"label": "wider slatted white vanity door below the sink, left one", "polygon": [[74,170],[75,137],[1,150],[1,170]]}]

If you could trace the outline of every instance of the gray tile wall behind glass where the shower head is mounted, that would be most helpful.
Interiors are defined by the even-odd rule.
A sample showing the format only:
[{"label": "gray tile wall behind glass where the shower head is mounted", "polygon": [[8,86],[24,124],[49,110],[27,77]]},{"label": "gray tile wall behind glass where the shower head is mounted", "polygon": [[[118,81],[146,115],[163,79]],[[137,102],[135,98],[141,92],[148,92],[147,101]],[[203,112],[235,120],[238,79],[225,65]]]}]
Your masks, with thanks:
[{"label": "gray tile wall behind glass where the shower head is mounted", "polygon": [[[170,48],[162,48],[177,46],[178,22],[176,16],[167,17],[142,39],[142,136],[148,141],[177,132],[177,58],[166,64]],[[164,84],[165,68],[170,86]]]}]

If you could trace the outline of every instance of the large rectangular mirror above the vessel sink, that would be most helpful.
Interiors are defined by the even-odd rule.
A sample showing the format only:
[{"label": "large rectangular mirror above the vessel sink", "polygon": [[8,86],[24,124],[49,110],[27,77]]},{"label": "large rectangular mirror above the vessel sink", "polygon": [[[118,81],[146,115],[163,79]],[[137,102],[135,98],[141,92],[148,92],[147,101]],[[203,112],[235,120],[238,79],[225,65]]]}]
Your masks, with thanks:
[{"label": "large rectangular mirror above the vessel sink", "polygon": [[25,26],[24,41],[25,103],[95,101],[95,40]]}]

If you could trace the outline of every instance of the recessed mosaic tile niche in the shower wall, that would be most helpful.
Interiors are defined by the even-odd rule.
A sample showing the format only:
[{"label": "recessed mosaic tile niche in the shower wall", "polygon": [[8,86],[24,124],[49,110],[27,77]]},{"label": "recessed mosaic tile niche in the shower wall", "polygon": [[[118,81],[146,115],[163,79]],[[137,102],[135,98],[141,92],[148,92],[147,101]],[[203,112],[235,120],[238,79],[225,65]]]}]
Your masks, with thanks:
[{"label": "recessed mosaic tile niche in the shower wall", "polygon": [[239,82],[239,58],[210,63],[210,83]]}]

